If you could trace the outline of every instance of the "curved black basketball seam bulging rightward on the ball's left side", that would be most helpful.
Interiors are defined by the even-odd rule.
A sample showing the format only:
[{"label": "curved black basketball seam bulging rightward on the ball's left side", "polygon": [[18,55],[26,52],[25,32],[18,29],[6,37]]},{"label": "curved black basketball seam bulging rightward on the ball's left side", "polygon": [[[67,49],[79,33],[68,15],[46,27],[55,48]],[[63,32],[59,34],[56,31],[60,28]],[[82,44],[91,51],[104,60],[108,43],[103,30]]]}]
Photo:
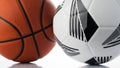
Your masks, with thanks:
[{"label": "curved black basketball seam bulging rightward on the ball's left side", "polygon": [[14,25],[13,25],[11,22],[9,22],[8,20],[6,20],[6,19],[4,19],[4,18],[2,18],[2,17],[0,17],[0,19],[3,20],[4,22],[8,23],[11,27],[13,27],[13,28],[17,31],[17,33],[19,34],[19,36],[20,36],[20,39],[21,39],[21,42],[22,42],[22,48],[21,48],[21,50],[20,50],[19,55],[16,56],[16,57],[13,59],[13,60],[15,61],[15,60],[17,60],[17,58],[19,58],[19,56],[21,55],[21,53],[23,53],[23,51],[24,51],[24,39],[22,38],[22,33],[19,31],[19,29],[18,29],[16,26],[14,26]]}]

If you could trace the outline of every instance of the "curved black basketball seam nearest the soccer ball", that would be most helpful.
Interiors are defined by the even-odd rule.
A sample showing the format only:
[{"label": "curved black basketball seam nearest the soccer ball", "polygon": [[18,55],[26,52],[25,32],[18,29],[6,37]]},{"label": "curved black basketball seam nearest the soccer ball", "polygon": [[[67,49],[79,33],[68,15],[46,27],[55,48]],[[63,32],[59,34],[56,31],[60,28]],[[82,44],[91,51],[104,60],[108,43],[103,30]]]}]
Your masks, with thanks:
[{"label": "curved black basketball seam nearest the soccer ball", "polygon": [[44,2],[44,0],[42,0],[42,6],[41,6],[41,11],[40,11],[40,26],[41,26],[41,29],[42,29],[42,32],[43,32],[43,34],[44,34],[44,36],[46,37],[46,39],[48,39],[49,41],[51,41],[51,42],[55,42],[54,40],[51,40],[48,36],[47,36],[47,34],[46,34],[46,32],[45,32],[45,30],[44,30],[44,28],[43,28],[43,10],[44,10],[44,4],[45,4],[45,2]]}]

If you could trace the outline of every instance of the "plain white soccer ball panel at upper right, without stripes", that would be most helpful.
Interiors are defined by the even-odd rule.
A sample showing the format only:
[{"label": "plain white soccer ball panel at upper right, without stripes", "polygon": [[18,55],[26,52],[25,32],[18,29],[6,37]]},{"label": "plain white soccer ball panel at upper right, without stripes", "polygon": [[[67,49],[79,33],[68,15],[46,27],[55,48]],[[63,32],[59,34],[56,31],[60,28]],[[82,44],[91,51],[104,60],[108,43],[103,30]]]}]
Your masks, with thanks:
[{"label": "plain white soccer ball panel at upper right, without stripes", "polygon": [[120,5],[115,0],[93,0],[88,11],[100,27],[116,27],[120,23]]}]

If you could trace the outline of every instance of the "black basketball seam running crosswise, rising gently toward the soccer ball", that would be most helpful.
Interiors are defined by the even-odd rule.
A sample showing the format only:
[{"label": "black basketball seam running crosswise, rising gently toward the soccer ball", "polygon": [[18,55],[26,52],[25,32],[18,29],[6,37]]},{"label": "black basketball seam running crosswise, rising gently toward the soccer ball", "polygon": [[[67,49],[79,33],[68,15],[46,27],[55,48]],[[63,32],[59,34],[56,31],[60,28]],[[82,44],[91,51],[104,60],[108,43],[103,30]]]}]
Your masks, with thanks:
[{"label": "black basketball seam running crosswise, rising gently toward the soccer ball", "polygon": [[[48,29],[48,28],[51,27],[51,26],[52,26],[52,24],[46,26],[44,29]],[[40,33],[41,31],[42,31],[42,30],[38,30],[38,31],[34,32],[34,34],[38,34],[38,33]],[[15,39],[10,39],[10,40],[0,41],[0,43],[12,42],[12,41],[20,40],[21,38],[27,38],[27,37],[30,37],[30,36],[31,36],[31,34],[22,36],[22,37],[20,37],[20,38],[15,38]]]}]

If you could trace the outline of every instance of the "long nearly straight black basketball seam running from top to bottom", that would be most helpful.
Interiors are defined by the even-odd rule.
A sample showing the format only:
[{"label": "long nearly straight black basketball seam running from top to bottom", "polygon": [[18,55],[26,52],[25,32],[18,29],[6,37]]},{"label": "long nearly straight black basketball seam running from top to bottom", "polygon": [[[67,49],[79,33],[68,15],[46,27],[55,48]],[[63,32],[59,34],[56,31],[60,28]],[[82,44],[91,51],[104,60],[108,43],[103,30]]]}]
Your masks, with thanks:
[{"label": "long nearly straight black basketball seam running from top to bottom", "polygon": [[27,24],[28,24],[28,26],[30,28],[30,31],[31,31],[31,34],[32,34],[32,37],[33,37],[33,40],[34,40],[34,44],[35,44],[35,47],[36,47],[36,51],[37,51],[37,54],[38,54],[38,58],[39,58],[40,57],[39,47],[38,47],[38,43],[37,43],[35,35],[34,35],[34,31],[33,31],[32,26],[31,26],[31,22],[29,20],[29,17],[27,16],[27,13],[26,13],[23,5],[22,5],[21,0],[18,0],[18,2],[19,2],[19,5],[20,5],[20,7],[21,7],[21,9],[23,11],[23,14],[24,14],[24,16],[26,18]]}]

